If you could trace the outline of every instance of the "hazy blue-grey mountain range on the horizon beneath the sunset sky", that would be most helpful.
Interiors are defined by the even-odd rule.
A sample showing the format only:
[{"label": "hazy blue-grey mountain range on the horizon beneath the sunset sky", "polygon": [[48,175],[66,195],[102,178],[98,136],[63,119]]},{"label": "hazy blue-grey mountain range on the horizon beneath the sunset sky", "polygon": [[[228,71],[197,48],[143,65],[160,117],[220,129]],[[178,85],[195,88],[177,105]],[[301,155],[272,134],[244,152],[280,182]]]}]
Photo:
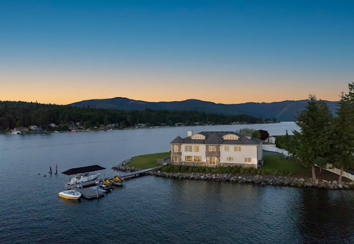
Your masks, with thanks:
[{"label": "hazy blue-grey mountain range on the horizon beneath the sunset sky", "polygon": [[[110,98],[93,99],[81,102],[74,102],[68,105],[77,107],[96,107],[121,110],[144,110],[150,108],[153,110],[190,110],[206,113],[220,114],[248,114],[255,117],[275,118],[276,121],[294,121],[297,113],[303,110],[308,100],[283,101],[283,102],[246,102],[239,104],[223,104],[214,102],[205,102],[195,99],[176,102],[145,102],[131,100],[128,98]],[[337,102],[324,101],[328,104],[332,113],[335,113]]]}]

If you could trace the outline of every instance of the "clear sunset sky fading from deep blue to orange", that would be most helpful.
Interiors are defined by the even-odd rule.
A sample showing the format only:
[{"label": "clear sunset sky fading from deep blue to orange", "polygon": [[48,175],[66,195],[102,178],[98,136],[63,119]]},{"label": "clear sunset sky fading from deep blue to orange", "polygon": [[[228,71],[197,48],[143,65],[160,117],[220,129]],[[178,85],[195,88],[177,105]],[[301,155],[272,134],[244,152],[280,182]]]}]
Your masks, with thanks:
[{"label": "clear sunset sky fading from deep blue to orange", "polygon": [[354,1],[0,0],[0,100],[338,101]]}]

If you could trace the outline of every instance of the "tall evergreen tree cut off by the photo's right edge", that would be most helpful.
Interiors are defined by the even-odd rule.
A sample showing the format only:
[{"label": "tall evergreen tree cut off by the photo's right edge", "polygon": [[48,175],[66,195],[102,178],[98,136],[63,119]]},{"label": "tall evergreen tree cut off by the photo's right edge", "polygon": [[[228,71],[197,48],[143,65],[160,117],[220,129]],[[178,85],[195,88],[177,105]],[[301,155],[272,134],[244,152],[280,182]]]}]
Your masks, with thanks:
[{"label": "tall evergreen tree cut off by the photo's right edge", "polygon": [[332,123],[332,162],[340,168],[338,182],[342,182],[343,170],[354,168],[354,82],[349,84],[349,94],[342,93],[338,102],[337,117]]}]

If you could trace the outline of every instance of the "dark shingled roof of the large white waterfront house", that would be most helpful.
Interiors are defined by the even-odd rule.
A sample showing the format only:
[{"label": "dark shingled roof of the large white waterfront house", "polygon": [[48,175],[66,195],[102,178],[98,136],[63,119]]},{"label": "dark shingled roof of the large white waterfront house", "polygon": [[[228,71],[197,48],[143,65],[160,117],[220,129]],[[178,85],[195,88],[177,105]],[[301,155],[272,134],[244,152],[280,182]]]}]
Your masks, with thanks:
[{"label": "dark shingled roof of the large white waterfront house", "polygon": [[[212,144],[212,145],[219,145],[219,144],[245,144],[245,145],[258,145],[259,143],[263,142],[262,140],[250,137],[249,134],[240,134],[234,131],[202,131],[197,134],[201,134],[206,137],[205,140],[202,139],[191,139],[191,137],[181,138],[176,137],[171,144]],[[238,136],[240,139],[238,140],[224,140],[223,136],[233,134]],[[247,138],[247,137],[250,137]]]}]

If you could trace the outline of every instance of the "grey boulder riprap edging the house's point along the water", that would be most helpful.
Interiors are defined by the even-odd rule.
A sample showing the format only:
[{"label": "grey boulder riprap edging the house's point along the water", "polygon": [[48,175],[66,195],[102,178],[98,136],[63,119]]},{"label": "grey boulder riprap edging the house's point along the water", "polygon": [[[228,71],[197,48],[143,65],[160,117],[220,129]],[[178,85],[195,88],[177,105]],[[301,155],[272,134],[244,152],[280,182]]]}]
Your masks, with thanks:
[{"label": "grey boulder riprap edging the house's point along the water", "polygon": [[[140,168],[130,168],[125,164],[130,162],[131,159],[113,167],[116,170],[123,172],[135,172],[141,170]],[[319,181],[314,183],[312,180],[305,180],[303,178],[287,177],[287,176],[261,176],[261,175],[234,175],[234,174],[215,174],[215,173],[167,173],[158,171],[148,171],[146,175],[157,177],[171,178],[171,179],[187,179],[187,180],[202,180],[202,181],[220,181],[220,182],[233,182],[233,183],[253,183],[258,185],[278,185],[290,187],[314,187],[324,188],[331,190],[349,190],[354,189],[354,182],[338,183],[337,181]]]}]

